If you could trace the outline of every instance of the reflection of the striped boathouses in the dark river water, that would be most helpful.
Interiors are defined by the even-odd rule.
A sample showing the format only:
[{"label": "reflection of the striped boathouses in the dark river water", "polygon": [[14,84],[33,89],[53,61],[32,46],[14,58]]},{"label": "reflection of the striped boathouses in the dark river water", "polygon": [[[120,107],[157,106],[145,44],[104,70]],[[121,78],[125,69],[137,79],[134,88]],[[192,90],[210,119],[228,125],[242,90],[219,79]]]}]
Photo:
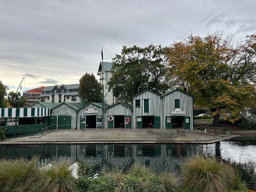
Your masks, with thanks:
[{"label": "reflection of the striped boathouses in the dark river water", "polygon": [[[67,152],[67,145],[56,145],[56,155],[52,148],[52,157],[58,159],[67,155],[74,161],[81,163],[93,163],[97,167],[130,167],[132,164],[149,167],[150,170],[160,173],[162,171],[176,171],[181,158],[201,151],[201,145],[69,145],[70,152]],[[53,146],[54,147],[54,146]],[[47,161],[47,158],[45,159]]]}]

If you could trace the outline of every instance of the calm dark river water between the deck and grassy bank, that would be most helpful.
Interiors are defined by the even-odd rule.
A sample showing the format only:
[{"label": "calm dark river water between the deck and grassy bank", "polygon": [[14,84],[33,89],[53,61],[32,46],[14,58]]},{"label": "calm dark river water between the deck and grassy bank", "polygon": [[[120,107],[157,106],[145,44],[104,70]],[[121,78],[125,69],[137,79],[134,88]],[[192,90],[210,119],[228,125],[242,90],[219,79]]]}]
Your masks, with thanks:
[{"label": "calm dark river water between the deck and grassy bank", "polygon": [[237,137],[213,144],[137,144],[137,145],[0,145],[0,158],[41,155],[39,163],[66,156],[93,163],[96,170],[109,166],[129,167],[133,163],[151,170],[177,172],[186,156],[205,154],[230,161],[243,170],[242,180],[256,190],[256,137]]}]

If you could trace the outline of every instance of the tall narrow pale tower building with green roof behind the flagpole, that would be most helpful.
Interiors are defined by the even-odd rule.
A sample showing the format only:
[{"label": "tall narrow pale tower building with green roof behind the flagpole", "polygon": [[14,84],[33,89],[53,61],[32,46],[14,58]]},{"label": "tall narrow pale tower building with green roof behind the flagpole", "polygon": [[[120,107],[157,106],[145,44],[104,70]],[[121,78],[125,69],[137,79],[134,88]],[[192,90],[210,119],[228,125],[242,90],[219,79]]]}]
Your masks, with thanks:
[{"label": "tall narrow pale tower building with green roof behind the flagpole", "polygon": [[113,93],[108,89],[108,80],[112,77],[111,74],[112,63],[110,62],[100,62],[97,75],[100,75],[100,83],[102,85],[102,76],[103,76],[103,93],[104,93],[104,102],[108,105],[116,103],[116,98],[113,96]]}]

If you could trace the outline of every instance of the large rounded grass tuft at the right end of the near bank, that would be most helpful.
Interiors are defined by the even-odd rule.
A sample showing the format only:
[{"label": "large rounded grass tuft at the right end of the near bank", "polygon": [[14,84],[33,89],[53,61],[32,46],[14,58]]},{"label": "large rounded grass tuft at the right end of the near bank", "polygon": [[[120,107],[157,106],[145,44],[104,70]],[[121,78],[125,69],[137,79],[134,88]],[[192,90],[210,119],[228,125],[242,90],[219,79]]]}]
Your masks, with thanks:
[{"label": "large rounded grass tuft at the right end of the near bank", "polygon": [[180,169],[182,183],[192,191],[225,192],[236,188],[240,181],[237,170],[230,163],[221,163],[211,156],[193,155]]}]

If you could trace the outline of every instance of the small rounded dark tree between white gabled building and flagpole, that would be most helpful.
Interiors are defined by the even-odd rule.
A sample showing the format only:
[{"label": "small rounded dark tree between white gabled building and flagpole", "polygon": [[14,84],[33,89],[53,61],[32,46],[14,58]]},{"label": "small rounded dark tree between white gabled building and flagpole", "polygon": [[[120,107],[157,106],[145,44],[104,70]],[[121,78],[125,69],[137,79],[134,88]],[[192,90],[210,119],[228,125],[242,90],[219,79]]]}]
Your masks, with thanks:
[{"label": "small rounded dark tree between white gabled building and flagpole", "polygon": [[78,96],[83,99],[87,99],[89,102],[101,103],[102,102],[102,87],[94,74],[85,73],[79,80]]}]

